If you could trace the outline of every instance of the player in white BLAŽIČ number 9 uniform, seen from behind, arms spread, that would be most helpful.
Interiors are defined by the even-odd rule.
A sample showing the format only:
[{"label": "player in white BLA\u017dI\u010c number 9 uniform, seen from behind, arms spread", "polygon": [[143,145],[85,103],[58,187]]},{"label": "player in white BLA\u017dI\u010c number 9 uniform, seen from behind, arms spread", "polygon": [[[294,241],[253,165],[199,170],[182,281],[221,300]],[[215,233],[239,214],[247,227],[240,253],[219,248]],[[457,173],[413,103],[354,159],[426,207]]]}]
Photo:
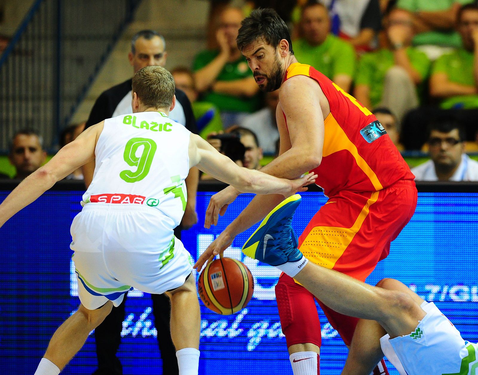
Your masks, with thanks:
[{"label": "player in white BLA\u017dI\u010c number 9 uniform, seen from behind, arms spread", "polygon": [[139,70],[130,115],[101,121],[28,176],[0,205],[0,226],[54,183],[96,158],[83,210],[71,226],[81,304],[54,333],[35,374],[59,374],[90,331],[133,287],[171,298],[171,336],[180,375],[196,375],[200,313],[189,253],[174,238],[192,166],[241,192],[290,195],[316,176],[287,180],[237,166],[172,121],[174,79],[160,66]]}]

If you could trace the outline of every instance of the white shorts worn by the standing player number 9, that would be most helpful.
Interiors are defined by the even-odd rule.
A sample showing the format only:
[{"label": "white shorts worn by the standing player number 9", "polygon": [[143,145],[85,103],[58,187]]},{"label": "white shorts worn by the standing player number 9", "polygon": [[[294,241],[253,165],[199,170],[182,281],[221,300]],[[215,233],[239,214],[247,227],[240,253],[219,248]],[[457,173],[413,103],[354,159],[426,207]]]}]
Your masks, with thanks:
[{"label": "white shorts worn by the standing player number 9", "polygon": [[173,220],[136,204],[88,203],[71,224],[78,296],[87,309],[120,305],[132,287],[162,294],[192,271]]}]

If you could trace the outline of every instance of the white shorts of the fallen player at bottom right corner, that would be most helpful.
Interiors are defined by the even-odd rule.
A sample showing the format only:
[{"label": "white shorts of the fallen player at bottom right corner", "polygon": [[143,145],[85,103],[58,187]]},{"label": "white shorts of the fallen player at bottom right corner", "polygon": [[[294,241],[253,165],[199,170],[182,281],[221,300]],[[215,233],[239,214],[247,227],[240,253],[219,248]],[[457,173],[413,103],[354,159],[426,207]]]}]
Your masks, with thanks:
[{"label": "white shorts of the fallen player at bottom right corner", "polygon": [[383,354],[400,375],[478,374],[477,345],[460,332],[433,302],[424,302],[425,317],[406,336],[380,339]]}]

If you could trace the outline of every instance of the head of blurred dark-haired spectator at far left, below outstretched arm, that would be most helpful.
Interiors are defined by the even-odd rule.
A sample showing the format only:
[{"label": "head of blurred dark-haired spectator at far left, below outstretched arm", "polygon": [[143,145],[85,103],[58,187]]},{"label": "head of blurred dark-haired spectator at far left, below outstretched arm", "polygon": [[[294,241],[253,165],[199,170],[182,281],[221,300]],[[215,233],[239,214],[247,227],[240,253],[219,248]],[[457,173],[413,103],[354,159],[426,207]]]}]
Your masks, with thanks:
[{"label": "head of blurred dark-haired spectator at far left, below outstretched arm", "polygon": [[16,169],[13,178],[25,178],[40,168],[46,159],[43,138],[31,129],[16,132],[11,140],[8,158]]}]

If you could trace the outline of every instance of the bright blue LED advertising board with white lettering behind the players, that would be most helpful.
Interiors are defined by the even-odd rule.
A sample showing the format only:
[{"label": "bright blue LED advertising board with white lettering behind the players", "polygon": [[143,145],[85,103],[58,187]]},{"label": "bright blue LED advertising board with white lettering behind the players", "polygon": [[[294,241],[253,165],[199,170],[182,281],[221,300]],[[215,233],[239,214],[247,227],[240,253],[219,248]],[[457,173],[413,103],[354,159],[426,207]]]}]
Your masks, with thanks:
[{"label": "bright blue LED advertising board with white lettering behind the players", "polygon": [[[183,232],[185,247],[194,258],[251,199],[251,195],[239,196],[219,225],[206,230],[202,221],[212,194],[198,193],[200,222]],[[6,195],[6,191],[0,192],[0,200]],[[326,201],[321,193],[302,195],[293,221],[297,233]],[[54,330],[77,308],[69,228],[81,209],[80,200],[81,192],[47,192],[0,229],[0,356],[5,374],[33,374]],[[274,297],[279,272],[240,253],[251,232],[240,234],[225,256],[236,257],[250,268],[256,282],[253,298],[232,316],[201,308],[200,374],[292,374]],[[464,339],[477,342],[477,238],[478,194],[419,193],[412,221],[367,281],[375,284],[383,277],[401,280],[423,298],[434,301]],[[339,374],[347,349],[321,311],[319,316],[321,374]],[[118,355],[124,374],[160,374],[149,295],[130,292],[121,334]],[[64,374],[91,374],[96,363],[94,338],[90,335]],[[398,374],[394,369],[390,373]]]}]

